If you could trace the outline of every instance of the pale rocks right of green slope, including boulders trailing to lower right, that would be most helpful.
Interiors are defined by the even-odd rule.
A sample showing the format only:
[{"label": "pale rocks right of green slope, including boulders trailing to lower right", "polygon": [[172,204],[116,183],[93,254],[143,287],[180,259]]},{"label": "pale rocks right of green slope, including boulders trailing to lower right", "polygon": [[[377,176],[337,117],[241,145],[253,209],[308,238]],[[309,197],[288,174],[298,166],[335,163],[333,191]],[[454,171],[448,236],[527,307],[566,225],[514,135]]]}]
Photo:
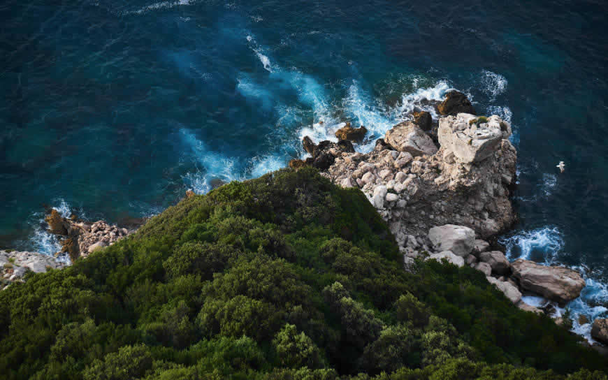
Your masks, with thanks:
[{"label": "pale rocks right of green slope, including boulders trailing to lower right", "polygon": [[[311,147],[305,138],[307,152],[314,152],[314,160],[306,163],[317,166],[317,157],[333,161],[317,166],[321,174],[363,191],[389,224],[408,270],[415,259],[469,265],[517,307],[535,313],[542,310],[523,302],[522,293],[560,305],[579,297],[585,281],[578,272],[523,259],[509,263],[486,241],[515,221],[509,196],[516,149],[508,140],[509,123],[496,115],[460,112],[437,124],[430,133],[415,120],[398,124],[367,154],[340,149],[342,141]],[[595,339],[608,342],[608,321],[597,319],[593,331]]]}]

